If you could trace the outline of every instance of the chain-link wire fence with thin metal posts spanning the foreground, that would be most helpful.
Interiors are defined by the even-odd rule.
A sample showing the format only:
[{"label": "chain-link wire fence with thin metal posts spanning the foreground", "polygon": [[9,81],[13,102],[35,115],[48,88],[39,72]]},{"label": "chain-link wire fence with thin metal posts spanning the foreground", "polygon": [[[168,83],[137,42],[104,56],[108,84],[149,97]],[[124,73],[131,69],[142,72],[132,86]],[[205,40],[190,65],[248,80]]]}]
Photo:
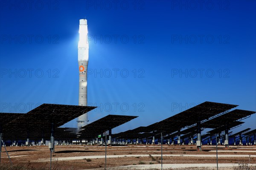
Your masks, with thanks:
[{"label": "chain-link wire fence with thin metal posts spanning the foreground", "polygon": [[1,139],[0,170],[256,170],[254,136],[238,144],[230,139],[226,147],[216,134],[203,140],[199,151],[194,140],[178,142],[162,135],[158,139],[118,139],[107,134],[55,142]]}]

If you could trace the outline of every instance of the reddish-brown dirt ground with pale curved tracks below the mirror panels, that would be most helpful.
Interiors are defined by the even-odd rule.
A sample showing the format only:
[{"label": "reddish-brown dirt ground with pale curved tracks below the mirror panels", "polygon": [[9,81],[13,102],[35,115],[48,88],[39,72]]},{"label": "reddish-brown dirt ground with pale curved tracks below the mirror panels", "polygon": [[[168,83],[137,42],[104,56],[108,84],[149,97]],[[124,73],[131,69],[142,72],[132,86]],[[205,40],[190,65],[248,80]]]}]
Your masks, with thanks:
[{"label": "reddish-brown dirt ground with pale curved tracks below the mirror panels", "polygon": [[[48,146],[6,147],[6,149],[15,165],[36,168],[49,167],[50,151]],[[229,151],[221,152],[223,150]],[[195,145],[163,145],[163,164],[212,164],[216,163],[215,151],[215,146],[210,145],[204,145],[202,151],[197,151]],[[218,151],[218,163],[220,164],[256,164],[256,146],[230,146],[229,148],[218,146]],[[79,156],[90,156],[90,158]],[[154,167],[153,164],[161,163],[161,146],[144,144],[111,146],[107,147],[107,156],[113,157],[107,157],[107,167],[141,164],[151,164]],[[62,158],[67,160],[61,160]],[[2,164],[10,164],[3,147]],[[52,167],[60,170],[103,168],[105,167],[105,147],[95,145],[55,146],[55,153],[52,154]]]}]

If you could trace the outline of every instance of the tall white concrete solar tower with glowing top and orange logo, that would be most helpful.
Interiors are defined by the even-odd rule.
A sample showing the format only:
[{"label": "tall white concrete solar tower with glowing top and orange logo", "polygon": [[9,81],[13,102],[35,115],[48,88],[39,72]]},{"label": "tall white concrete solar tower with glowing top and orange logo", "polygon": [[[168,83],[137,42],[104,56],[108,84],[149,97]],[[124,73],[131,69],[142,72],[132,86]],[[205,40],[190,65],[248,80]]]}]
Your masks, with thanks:
[{"label": "tall white concrete solar tower with glowing top and orange logo", "polygon": [[[78,65],[79,65],[79,106],[87,106],[87,67],[89,59],[89,45],[87,36],[87,20],[79,20],[79,43],[78,43]],[[87,125],[87,113],[77,119],[77,127]]]}]

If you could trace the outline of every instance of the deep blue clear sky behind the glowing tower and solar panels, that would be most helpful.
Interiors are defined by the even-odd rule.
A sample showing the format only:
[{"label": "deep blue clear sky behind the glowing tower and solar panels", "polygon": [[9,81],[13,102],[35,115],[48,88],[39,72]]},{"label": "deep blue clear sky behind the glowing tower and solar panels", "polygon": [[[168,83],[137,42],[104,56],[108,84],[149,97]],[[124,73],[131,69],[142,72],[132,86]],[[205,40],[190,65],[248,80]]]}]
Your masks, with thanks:
[{"label": "deep blue clear sky behind the glowing tower and solar panels", "polygon": [[[147,126],[205,101],[256,111],[256,1],[0,1],[0,110],[78,105],[79,19],[89,34],[90,122]],[[255,114],[245,120],[256,128]],[[76,120],[65,125],[76,127]]]}]

